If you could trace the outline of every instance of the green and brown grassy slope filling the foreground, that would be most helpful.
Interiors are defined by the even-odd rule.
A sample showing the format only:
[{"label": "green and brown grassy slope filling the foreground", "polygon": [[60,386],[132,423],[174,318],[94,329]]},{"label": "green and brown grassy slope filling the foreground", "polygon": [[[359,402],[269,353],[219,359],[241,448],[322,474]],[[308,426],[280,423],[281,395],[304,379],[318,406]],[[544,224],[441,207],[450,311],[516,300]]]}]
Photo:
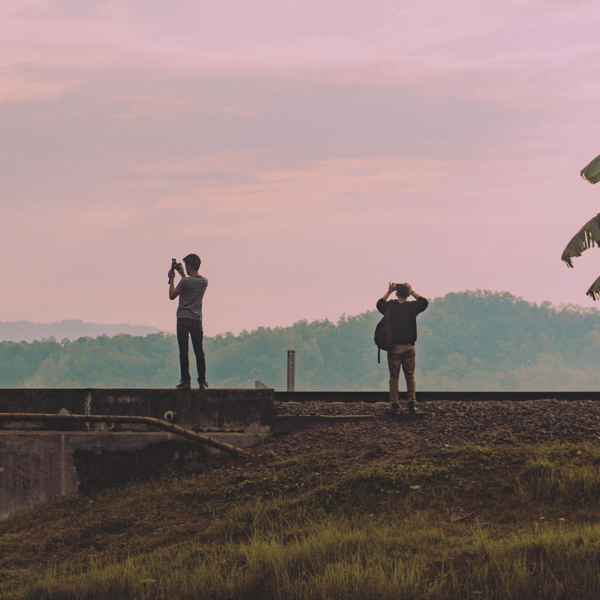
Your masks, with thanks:
[{"label": "green and brown grassy slope filling the foreground", "polygon": [[226,461],[14,519],[0,597],[600,597],[597,446],[366,454]]}]

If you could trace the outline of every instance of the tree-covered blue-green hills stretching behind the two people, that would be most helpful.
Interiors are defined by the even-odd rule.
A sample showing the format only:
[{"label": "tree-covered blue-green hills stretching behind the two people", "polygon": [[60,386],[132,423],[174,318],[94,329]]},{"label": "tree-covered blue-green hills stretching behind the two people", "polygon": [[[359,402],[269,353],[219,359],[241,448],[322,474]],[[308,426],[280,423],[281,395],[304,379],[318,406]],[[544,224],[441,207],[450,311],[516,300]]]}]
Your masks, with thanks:
[{"label": "tree-covered blue-green hills stretching behind the two people", "polygon": [[[386,389],[375,311],[338,323],[299,321],[205,340],[211,387],[284,389],[296,350],[297,389]],[[419,316],[417,385],[428,390],[598,390],[600,312],[532,304],[508,293],[463,292]],[[193,360],[191,361],[193,365]],[[162,333],[0,343],[2,387],[172,387],[177,342]]]}]

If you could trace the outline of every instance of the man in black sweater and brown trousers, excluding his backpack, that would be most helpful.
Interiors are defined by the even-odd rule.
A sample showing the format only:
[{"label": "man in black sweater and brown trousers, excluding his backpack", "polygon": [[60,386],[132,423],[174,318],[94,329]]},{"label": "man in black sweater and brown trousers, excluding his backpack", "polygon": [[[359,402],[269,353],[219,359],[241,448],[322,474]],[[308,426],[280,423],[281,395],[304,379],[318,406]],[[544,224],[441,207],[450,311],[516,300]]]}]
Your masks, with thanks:
[{"label": "man in black sweater and brown trousers, excluding his backpack", "polygon": [[[396,292],[396,299],[390,300],[390,294]],[[415,301],[408,301],[412,296]],[[406,379],[406,391],[408,396],[408,411],[415,413],[415,402],[417,400],[415,384],[415,363],[417,350],[417,315],[422,313],[429,302],[419,296],[408,283],[390,282],[387,292],[383,298],[377,301],[377,310],[385,315],[390,314],[392,341],[394,347],[388,351],[388,367],[390,371],[390,403],[391,411],[398,412],[398,379],[400,370],[404,371]]]}]

